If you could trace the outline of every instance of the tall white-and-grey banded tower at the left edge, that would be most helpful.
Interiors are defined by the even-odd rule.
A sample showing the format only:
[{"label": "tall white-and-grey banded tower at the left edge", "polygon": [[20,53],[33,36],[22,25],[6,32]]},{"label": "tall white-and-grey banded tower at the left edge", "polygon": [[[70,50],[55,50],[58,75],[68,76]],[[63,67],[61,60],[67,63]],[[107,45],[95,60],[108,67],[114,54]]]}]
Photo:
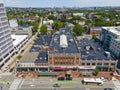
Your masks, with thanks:
[{"label": "tall white-and-grey banded tower at the left edge", "polygon": [[0,68],[13,54],[14,46],[11,38],[10,27],[4,5],[0,2]]}]

